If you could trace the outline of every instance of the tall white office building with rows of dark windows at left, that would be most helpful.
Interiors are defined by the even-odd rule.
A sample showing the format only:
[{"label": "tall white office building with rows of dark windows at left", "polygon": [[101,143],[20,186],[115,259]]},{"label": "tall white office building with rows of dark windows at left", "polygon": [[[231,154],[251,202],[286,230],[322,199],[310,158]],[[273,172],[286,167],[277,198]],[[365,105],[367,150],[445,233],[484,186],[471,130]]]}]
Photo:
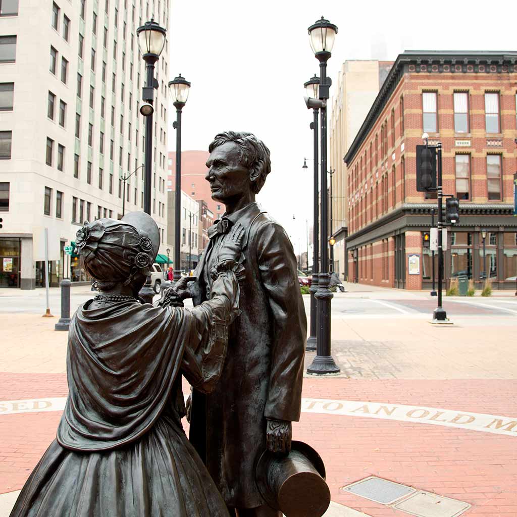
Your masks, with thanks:
[{"label": "tall white office building with rows of dark windows at left", "polygon": [[[136,28],[151,17],[168,27],[169,3],[0,0],[0,287],[44,286],[45,228],[57,285],[64,266],[67,276],[63,248],[85,220],[143,209],[146,73]],[[168,64],[167,41],[156,64],[153,124],[151,215],[160,253]],[[70,258],[71,280],[87,281]]]}]

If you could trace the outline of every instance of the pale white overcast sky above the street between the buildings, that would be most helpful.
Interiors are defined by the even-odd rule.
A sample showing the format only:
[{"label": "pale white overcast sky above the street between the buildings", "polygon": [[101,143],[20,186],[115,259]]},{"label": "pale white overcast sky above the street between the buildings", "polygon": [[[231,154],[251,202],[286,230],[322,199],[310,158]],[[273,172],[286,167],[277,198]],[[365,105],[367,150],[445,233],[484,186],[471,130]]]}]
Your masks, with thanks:
[{"label": "pale white overcast sky above the street between the buildings", "polygon": [[[303,83],[319,71],[309,25],[324,16],[338,26],[328,62],[335,85],[346,59],[395,60],[415,49],[516,50],[511,12],[507,0],[494,4],[491,16],[450,0],[172,0],[170,79],[181,73],[192,83],[182,148],[207,149],[216,133],[230,129],[263,140],[272,169],[257,200],[284,225],[295,252],[298,241],[303,251],[306,219],[312,224],[312,162],[301,169],[303,157],[312,156]],[[175,150],[172,103],[169,108],[169,150]]]}]

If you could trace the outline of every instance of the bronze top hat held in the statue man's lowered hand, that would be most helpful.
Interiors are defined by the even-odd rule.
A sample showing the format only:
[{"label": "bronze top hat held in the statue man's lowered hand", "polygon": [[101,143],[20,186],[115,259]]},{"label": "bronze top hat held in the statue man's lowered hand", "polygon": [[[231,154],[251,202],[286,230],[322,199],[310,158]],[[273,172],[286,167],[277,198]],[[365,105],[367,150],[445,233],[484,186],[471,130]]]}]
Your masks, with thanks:
[{"label": "bronze top hat held in the statue man's lowered hand", "polygon": [[265,451],[255,479],[267,504],[286,517],[321,517],[330,505],[323,460],[303,442],[293,440],[286,456]]}]

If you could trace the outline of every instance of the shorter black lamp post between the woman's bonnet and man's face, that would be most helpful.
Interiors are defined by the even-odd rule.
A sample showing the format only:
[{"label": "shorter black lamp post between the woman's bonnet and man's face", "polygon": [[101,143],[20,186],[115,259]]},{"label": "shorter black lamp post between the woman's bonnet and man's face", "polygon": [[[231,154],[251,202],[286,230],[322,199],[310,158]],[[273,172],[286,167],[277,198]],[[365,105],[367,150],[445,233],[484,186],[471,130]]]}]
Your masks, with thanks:
[{"label": "shorter black lamp post between the woman's bonnet and man's face", "polygon": [[176,130],[176,193],[174,208],[174,280],[181,278],[181,253],[179,234],[181,233],[181,110],[189,97],[190,83],[181,77],[174,78],[169,82],[169,93],[172,97],[174,108],[176,108],[176,120],[172,127]]}]

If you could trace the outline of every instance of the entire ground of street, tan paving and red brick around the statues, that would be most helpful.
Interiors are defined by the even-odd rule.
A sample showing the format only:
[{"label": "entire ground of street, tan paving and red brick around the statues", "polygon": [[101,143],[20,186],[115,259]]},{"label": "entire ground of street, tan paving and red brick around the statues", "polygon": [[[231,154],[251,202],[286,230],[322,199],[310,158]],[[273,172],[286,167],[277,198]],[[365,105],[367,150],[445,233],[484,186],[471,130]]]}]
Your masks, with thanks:
[{"label": "entire ground of street, tan paving and red brick around the statues", "polygon": [[[331,312],[332,355],[342,371],[306,375],[294,424],[294,438],[325,462],[328,515],[515,517],[513,293],[444,297],[453,325],[437,326],[429,323],[436,305],[429,293],[346,288]],[[74,286],[72,306],[91,296],[89,287]],[[0,516],[55,437],[67,396],[67,332],[53,330],[59,290],[50,300],[55,317],[42,318],[44,290],[0,290]],[[307,353],[307,366],[313,357]],[[370,476],[412,487],[433,504],[408,513],[411,495],[382,504],[345,489]],[[447,498],[466,510],[447,513]]]}]

